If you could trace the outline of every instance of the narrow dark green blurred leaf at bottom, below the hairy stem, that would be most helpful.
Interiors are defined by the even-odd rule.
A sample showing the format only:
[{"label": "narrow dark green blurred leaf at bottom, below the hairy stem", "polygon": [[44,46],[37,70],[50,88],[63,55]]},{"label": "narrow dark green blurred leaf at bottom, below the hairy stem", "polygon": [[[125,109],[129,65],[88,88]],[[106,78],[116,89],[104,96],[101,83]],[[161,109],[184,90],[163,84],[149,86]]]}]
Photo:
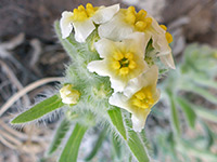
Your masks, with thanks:
[{"label": "narrow dark green blurred leaf at bottom, below the hairy stem", "polygon": [[101,148],[102,144],[103,144],[103,140],[104,138],[106,137],[106,130],[104,129],[101,133],[100,133],[100,136],[92,149],[92,151],[90,152],[90,154],[86,158],[86,161],[90,161],[95,154],[97,152],[99,151],[99,149]]}]

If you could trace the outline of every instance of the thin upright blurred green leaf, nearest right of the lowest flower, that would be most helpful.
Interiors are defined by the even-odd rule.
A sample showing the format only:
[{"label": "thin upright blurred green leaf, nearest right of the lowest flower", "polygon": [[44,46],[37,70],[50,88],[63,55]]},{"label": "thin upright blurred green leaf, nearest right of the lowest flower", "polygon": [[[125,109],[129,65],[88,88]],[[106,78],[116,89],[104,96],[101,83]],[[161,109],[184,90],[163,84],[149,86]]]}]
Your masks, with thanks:
[{"label": "thin upright blurred green leaf, nearest right of the lowest flower", "polygon": [[169,98],[169,103],[170,103],[173,127],[175,130],[175,133],[177,135],[180,135],[181,129],[180,129],[179,117],[178,117],[178,111],[177,111],[176,104],[174,100],[174,96],[173,96],[173,93],[168,90],[167,90],[167,94],[168,94],[168,98]]}]

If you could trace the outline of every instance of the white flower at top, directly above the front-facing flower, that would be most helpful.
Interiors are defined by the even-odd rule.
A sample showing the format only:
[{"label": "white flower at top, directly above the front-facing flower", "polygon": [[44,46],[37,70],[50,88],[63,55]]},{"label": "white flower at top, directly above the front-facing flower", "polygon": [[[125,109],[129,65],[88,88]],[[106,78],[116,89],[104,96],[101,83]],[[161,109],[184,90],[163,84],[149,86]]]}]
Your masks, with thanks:
[{"label": "white flower at top, directly above the front-facing flower", "polygon": [[140,10],[137,13],[135,6],[120,9],[110,22],[99,27],[99,36],[112,40],[125,39],[126,36],[135,31],[144,32],[150,38],[151,32],[164,32],[157,22],[148,15],[146,11]]}]

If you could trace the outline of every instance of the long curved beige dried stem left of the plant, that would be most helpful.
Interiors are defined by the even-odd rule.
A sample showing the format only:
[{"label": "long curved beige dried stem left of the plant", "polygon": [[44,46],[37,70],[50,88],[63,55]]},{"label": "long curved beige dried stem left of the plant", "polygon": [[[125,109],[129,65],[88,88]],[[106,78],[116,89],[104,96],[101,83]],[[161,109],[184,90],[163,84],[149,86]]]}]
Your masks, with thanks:
[{"label": "long curved beige dried stem left of the plant", "polygon": [[9,100],[1,107],[0,109],[0,117],[22,96],[24,96],[26,93],[35,90],[38,86],[41,86],[46,83],[49,82],[55,82],[55,81],[62,81],[63,78],[61,77],[53,77],[53,78],[44,78],[41,80],[38,80],[27,86],[25,86],[23,90],[18,91],[17,93],[15,93],[13,96],[11,96],[11,98],[9,98]]}]

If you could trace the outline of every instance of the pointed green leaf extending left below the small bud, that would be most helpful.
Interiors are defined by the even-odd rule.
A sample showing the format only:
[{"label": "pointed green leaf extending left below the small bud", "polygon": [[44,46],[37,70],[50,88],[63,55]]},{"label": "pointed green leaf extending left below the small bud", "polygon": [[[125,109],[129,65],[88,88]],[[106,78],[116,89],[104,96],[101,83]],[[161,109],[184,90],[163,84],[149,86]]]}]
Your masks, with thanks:
[{"label": "pointed green leaf extending left below the small bud", "polygon": [[59,95],[53,95],[52,97],[44,99],[43,102],[35,105],[33,108],[17,116],[11,121],[11,124],[22,124],[37,120],[42,116],[63,106],[64,104],[62,103],[62,99],[59,97]]}]

